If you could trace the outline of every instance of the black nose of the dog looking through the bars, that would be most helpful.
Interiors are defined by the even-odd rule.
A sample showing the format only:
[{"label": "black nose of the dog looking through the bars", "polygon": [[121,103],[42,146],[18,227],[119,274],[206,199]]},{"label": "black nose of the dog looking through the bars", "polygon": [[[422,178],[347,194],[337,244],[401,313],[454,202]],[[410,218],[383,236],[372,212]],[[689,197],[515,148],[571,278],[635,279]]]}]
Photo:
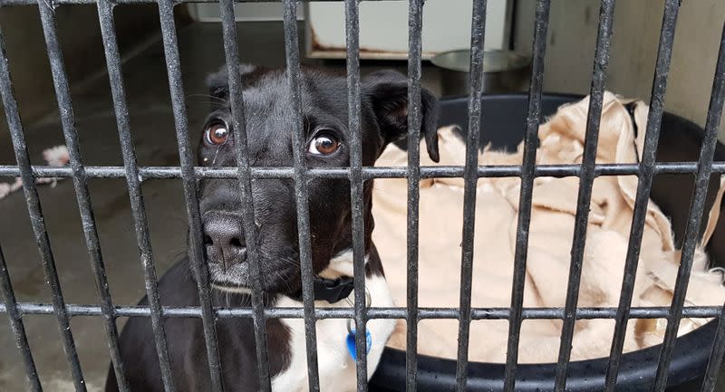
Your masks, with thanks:
[{"label": "black nose of the dog looking through the bars", "polygon": [[209,263],[231,266],[247,259],[247,245],[242,217],[232,213],[215,213],[204,219],[204,245]]}]

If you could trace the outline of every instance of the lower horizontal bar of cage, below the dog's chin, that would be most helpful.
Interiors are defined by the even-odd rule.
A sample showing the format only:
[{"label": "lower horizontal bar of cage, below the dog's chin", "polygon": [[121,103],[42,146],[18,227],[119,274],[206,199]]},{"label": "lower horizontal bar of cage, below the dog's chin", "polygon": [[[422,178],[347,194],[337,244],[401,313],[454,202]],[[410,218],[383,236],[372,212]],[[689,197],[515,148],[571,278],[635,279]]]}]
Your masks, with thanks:
[{"label": "lower horizontal bar of cage, below the dog's chin", "polygon": [[[19,302],[17,309],[21,315],[25,314],[53,314],[53,305],[50,303]],[[69,316],[102,316],[102,309],[98,305],[65,305]],[[214,308],[219,319],[239,317],[252,317],[252,308]],[[720,316],[721,306],[689,306],[682,311],[686,319],[711,319]],[[0,313],[7,312],[5,303],[0,303]],[[406,319],[407,308],[368,308],[368,319]],[[149,317],[148,306],[116,306],[116,317]],[[510,317],[509,308],[473,308],[472,320],[507,320]],[[578,308],[577,320],[610,320],[616,317],[617,308]],[[201,317],[201,308],[189,307],[161,307],[162,317]],[[458,308],[420,308],[418,319],[459,319]],[[666,306],[635,307],[632,308],[630,319],[664,319],[670,310]],[[324,319],[351,319],[355,315],[354,308],[315,308],[314,318]],[[268,319],[303,319],[304,308],[266,308],[265,317]],[[564,308],[524,308],[523,318],[526,320],[562,320]]]}]

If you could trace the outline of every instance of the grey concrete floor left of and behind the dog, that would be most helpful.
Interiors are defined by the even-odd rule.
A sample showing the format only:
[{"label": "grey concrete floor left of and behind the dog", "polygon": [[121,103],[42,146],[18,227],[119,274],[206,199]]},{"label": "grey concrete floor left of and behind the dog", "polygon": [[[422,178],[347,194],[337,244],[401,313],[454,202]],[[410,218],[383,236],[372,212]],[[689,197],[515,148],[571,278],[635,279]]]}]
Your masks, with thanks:
[{"label": "grey concrete floor left of and behind the dog", "polygon": [[[285,64],[281,23],[239,24],[238,33],[244,62],[267,66]],[[264,37],[264,40],[257,37]],[[304,37],[302,31],[300,37]],[[208,72],[218,70],[224,62],[222,35],[218,24],[190,24],[181,28],[179,50],[187,94],[189,129],[192,139],[196,141],[201,132],[201,121],[208,109],[207,99],[203,97],[207,93],[205,78]],[[344,70],[343,62],[327,62],[324,66]],[[404,72],[405,62],[363,63],[363,72],[382,67],[398,68]],[[139,164],[179,165],[166,66],[160,41],[125,62],[122,68]],[[425,66],[423,76],[424,84],[436,92],[440,91],[440,77],[435,69]],[[108,79],[103,77],[93,81],[87,90],[74,94],[73,108],[84,163],[122,165]],[[43,148],[63,144],[57,108],[51,110],[51,114],[43,120],[24,126],[34,163],[42,164],[40,153]],[[14,165],[14,155],[7,138],[4,119],[0,123],[0,135],[0,165]],[[89,186],[113,301],[116,305],[135,304],[145,292],[125,181],[95,179]],[[65,301],[97,304],[72,182],[64,180],[55,187],[41,186],[39,192]],[[183,192],[179,180],[145,181],[143,192],[157,272],[161,275],[172,263],[179,260],[185,249],[186,212]],[[0,200],[0,216],[0,244],[5,253],[17,300],[51,302],[22,192]],[[23,391],[27,389],[24,367],[18,360],[5,316],[2,319],[0,391]],[[124,321],[119,320],[120,327]],[[24,323],[44,389],[52,392],[73,390],[55,319],[52,316],[25,316]],[[72,330],[86,385],[89,391],[102,390],[110,360],[102,323],[94,317],[75,317],[72,319]]]}]

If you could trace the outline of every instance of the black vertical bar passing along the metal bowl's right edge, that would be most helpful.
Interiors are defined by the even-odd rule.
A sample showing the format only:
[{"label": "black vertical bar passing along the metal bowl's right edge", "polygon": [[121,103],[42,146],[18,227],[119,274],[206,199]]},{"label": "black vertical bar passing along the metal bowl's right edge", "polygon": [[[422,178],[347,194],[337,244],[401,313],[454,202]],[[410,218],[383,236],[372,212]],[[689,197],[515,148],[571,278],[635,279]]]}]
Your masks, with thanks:
[{"label": "black vertical bar passing along the metal bowl's right edge", "polygon": [[546,33],[548,33],[551,0],[538,0],[534,40],[532,43],[531,84],[528,88],[528,110],[524,135],[524,159],[521,170],[521,192],[518,198],[518,222],[514,253],[514,282],[511,290],[511,317],[508,320],[508,343],[504,389],[513,391],[516,383],[518,340],[521,333],[524,285],[527,271],[528,228],[531,224],[531,198],[534,193],[534,170],[538,125],[541,120],[541,92],[546,60]]}]

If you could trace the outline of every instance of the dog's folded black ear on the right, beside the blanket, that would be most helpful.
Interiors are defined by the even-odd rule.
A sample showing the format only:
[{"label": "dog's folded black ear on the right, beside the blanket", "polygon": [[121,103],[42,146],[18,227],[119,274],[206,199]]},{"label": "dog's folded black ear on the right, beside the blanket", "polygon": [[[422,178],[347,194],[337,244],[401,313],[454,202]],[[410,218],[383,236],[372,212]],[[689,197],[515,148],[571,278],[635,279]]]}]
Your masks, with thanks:
[{"label": "dog's folded black ear on the right, beside the blanket", "polygon": [[[372,72],[362,80],[362,91],[372,103],[385,144],[408,133],[408,80],[400,72]],[[420,133],[428,155],[438,162],[438,100],[428,89],[420,89]]]}]

